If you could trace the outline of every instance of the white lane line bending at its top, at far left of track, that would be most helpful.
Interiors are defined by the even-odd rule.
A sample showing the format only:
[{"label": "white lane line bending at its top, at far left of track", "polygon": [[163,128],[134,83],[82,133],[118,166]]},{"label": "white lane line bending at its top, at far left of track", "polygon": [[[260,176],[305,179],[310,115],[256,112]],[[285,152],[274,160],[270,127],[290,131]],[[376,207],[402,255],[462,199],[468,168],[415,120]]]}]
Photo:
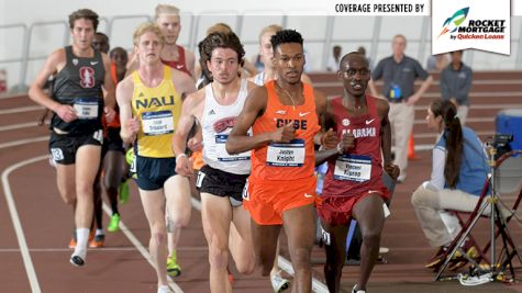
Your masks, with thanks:
[{"label": "white lane line bending at its top, at far left of track", "polygon": [[16,205],[14,203],[11,185],[9,184],[9,174],[11,174],[14,170],[19,168],[25,167],[40,160],[48,159],[48,155],[44,155],[26,159],[18,164],[11,165],[2,172],[3,194],[5,195],[5,201],[8,202],[9,214],[11,215],[11,222],[13,223],[13,228],[14,233],[16,234],[20,252],[22,253],[23,264],[25,267],[25,272],[27,273],[29,283],[31,284],[31,291],[33,293],[40,293],[42,292],[42,290],[40,289],[38,278],[36,277],[36,271],[34,270],[33,261],[31,260],[27,241],[25,240],[25,235],[23,234],[22,223],[20,222],[20,216],[16,211]]}]

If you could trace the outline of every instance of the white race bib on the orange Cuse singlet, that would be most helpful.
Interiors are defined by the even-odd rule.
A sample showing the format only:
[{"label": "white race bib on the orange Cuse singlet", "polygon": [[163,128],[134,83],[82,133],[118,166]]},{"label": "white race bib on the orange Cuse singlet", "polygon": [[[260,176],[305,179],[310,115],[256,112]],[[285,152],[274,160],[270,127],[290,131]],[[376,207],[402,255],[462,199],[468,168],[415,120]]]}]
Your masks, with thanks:
[{"label": "white race bib on the orange Cuse singlet", "polygon": [[277,167],[301,167],[304,164],[304,140],[271,143],[266,151],[266,164]]}]

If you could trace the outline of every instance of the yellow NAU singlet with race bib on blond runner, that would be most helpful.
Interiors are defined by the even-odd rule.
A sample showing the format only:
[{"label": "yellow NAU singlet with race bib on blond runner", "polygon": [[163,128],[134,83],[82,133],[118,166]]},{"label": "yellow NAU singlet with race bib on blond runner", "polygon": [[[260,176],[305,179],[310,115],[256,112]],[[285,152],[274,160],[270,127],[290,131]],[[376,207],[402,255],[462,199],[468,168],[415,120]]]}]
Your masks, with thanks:
[{"label": "yellow NAU singlet with race bib on blond runner", "polygon": [[171,142],[181,113],[181,97],[174,88],[170,68],[164,66],[163,80],[156,88],[147,88],[137,70],[132,74],[132,115],[138,117],[141,123],[136,137],[137,155],[149,158],[174,157]]}]

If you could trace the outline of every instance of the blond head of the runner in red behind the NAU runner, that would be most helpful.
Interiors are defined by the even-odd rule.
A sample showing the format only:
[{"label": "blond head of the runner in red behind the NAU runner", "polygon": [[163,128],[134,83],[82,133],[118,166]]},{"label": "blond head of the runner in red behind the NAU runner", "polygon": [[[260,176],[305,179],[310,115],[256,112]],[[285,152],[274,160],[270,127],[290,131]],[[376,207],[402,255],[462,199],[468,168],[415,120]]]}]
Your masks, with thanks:
[{"label": "blond head of the runner in red behind the NAU runner", "polygon": [[178,41],[179,31],[181,31],[179,9],[175,5],[158,4],[154,19],[159,29],[162,29],[165,44],[175,45]]}]

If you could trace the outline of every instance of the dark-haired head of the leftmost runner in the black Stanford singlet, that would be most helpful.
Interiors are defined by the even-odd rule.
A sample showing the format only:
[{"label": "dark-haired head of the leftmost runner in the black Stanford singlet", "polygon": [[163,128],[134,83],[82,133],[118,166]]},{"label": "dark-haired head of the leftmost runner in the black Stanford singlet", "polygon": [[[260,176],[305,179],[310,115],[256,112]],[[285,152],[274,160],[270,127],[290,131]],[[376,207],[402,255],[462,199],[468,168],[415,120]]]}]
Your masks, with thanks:
[{"label": "dark-haired head of the leftmost runner in the black Stanford singlet", "polygon": [[90,9],[77,10],[69,15],[69,27],[73,45],[82,50],[88,49],[98,29],[98,14]]}]

